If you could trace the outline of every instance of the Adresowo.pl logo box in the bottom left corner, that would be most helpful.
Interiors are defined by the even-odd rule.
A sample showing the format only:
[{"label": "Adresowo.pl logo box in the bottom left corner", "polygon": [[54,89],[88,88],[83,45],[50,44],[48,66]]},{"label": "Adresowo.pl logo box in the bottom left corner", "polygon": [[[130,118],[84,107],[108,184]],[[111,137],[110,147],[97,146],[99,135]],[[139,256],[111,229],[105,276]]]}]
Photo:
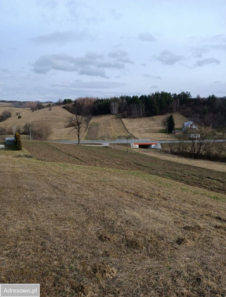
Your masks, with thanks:
[{"label": "Adresowo.pl logo box in the bottom left corner", "polygon": [[40,285],[1,284],[0,297],[40,297]]}]

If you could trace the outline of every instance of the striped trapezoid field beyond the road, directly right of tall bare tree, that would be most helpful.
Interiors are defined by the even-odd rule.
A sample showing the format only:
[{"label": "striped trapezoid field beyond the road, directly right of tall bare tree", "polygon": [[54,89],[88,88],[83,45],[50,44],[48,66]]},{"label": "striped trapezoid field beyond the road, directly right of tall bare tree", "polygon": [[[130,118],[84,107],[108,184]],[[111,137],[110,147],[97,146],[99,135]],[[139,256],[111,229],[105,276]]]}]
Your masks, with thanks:
[{"label": "striped trapezoid field beyond the road, directly right of tall bare tree", "polygon": [[91,118],[85,139],[117,139],[129,135],[122,119],[112,114],[98,115]]}]

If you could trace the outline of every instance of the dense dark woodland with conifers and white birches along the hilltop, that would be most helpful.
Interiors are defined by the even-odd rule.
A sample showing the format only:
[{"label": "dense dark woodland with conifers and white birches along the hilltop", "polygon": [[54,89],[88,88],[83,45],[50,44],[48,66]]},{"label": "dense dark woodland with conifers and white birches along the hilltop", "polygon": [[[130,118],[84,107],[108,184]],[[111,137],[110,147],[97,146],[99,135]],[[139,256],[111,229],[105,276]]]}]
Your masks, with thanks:
[{"label": "dense dark woodland with conifers and white birches along the hilltop", "polygon": [[[65,99],[67,100],[67,99]],[[59,103],[66,103],[64,100]],[[138,118],[158,114],[181,114],[197,123],[197,125],[210,126],[211,128],[226,127],[226,97],[193,98],[190,92],[171,94],[155,92],[150,95],[120,96],[112,98],[81,97],[72,103],[64,105],[72,113],[85,115],[121,114],[122,117]]]}]

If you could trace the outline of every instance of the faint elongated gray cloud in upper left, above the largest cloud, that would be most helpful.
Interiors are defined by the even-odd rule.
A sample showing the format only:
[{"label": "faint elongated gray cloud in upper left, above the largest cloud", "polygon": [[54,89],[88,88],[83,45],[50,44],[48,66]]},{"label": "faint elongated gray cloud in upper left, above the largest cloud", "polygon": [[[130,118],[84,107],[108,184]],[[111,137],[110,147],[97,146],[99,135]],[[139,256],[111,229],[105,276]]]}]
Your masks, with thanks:
[{"label": "faint elongated gray cloud in upper left, above the largest cloud", "polygon": [[93,39],[85,31],[56,31],[46,35],[40,35],[38,37],[30,38],[31,41],[39,44],[66,44],[71,42],[78,42],[85,39]]}]

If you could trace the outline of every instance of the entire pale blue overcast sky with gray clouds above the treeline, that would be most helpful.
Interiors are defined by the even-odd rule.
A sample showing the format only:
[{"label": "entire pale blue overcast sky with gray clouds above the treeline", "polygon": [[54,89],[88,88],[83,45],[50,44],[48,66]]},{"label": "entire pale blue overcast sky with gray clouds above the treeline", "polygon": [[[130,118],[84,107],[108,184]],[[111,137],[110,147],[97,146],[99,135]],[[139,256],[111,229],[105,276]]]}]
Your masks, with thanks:
[{"label": "entire pale blue overcast sky with gray clouds above the treeline", "polygon": [[225,0],[0,0],[0,100],[226,95]]}]

